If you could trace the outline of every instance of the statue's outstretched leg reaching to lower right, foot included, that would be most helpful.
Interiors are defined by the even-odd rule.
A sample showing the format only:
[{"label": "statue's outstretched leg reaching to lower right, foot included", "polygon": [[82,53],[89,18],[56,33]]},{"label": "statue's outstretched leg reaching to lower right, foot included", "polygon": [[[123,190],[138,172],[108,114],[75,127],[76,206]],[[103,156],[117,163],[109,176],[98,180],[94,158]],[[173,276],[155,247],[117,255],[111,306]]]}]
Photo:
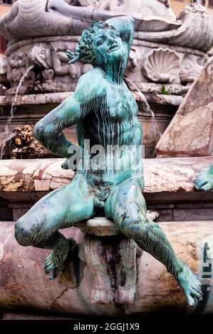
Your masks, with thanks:
[{"label": "statue's outstretched leg reaching to lower right, foot included", "polygon": [[113,218],[123,234],[134,239],[142,249],[165,264],[167,271],[185,291],[189,306],[194,306],[194,298],[202,300],[199,279],[176,257],[162,229],[147,219],[146,211],[145,198],[137,181],[133,179],[118,185],[105,203],[105,215]]}]

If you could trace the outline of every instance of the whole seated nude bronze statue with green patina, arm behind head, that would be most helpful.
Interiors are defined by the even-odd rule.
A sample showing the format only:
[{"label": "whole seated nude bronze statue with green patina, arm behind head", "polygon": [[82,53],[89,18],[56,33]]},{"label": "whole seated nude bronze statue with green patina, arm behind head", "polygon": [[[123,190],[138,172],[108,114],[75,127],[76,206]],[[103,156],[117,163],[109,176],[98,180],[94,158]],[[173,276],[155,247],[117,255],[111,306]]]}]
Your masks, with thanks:
[{"label": "whole seated nude bronze statue with green patina, arm behind head", "polygon": [[[90,139],[90,148],[103,146],[104,168],[76,166],[70,184],[46,195],[16,222],[16,239],[23,246],[53,249],[44,269],[55,279],[63,269],[69,249],[74,247],[74,242],[58,230],[95,215],[105,215],[114,220],[124,235],[165,264],[182,286],[189,305],[193,306],[194,298],[202,300],[199,279],[176,257],[161,228],[146,215],[142,195],[142,131],[137,121],[137,104],[123,81],[133,34],[133,18],[110,18],[106,22],[92,23],[88,31],[83,32],[76,50],[68,51],[71,63],[82,59],[94,68],[80,77],[71,97],[36,124],[34,136],[47,149],[67,158],[63,168],[68,168],[73,158],[70,152],[76,146],[62,131],[76,124],[82,153],[88,151],[85,139]],[[108,150],[108,146],[113,145],[125,146],[118,155],[119,170],[108,168],[115,158]],[[123,168],[126,161],[130,161],[128,169]]]}]

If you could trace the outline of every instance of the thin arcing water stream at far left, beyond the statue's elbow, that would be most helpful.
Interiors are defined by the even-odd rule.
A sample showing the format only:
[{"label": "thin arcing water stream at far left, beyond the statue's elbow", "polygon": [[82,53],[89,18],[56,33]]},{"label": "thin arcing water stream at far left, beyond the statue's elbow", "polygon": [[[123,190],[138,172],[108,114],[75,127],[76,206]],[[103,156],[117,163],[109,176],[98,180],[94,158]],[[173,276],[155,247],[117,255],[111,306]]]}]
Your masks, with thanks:
[{"label": "thin arcing water stream at far left, beyond the statue's elbow", "polygon": [[4,149],[6,147],[6,143],[12,138],[13,135],[11,135],[12,133],[9,131],[9,124],[11,124],[11,120],[14,118],[14,111],[16,109],[16,103],[19,97],[19,90],[24,82],[24,80],[26,79],[28,73],[33,70],[34,65],[31,65],[26,72],[24,73],[23,77],[21,77],[21,80],[19,82],[18,87],[16,88],[16,95],[14,97],[14,102],[11,104],[11,112],[10,112],[10,117],[8,119],[8,121],[6,122],[6,126],[5,126],[5,130],[4,130],[4,141],[3,144],[1,146],[1,156],[0,156],[0,160],[2,160],[3,156],[4,156]]}]

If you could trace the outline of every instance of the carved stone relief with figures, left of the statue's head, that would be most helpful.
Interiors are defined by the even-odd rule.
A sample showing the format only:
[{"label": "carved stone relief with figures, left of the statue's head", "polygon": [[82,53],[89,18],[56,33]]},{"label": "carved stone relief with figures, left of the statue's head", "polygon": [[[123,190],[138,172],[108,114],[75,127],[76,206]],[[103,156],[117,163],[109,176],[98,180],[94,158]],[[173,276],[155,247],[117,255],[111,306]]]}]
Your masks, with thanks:
[{"label": "carved stone relief with figures, left of the statue's head", "polygon": [[19,94],[73,91],[79,77],[91,68],[90,65],[81,62],[68,65],[66,50],[73,50],[75,45],[76,42],[67,41],[66,38],[51,43],[46,42],[44,38],[38,43],[29,40],[20,47],[17,43],[16,49],[6,57],[6,77],[11,85],[6,94],[15,94],[21,77],[30,65],[34,65],[34,68],[28,72]]}]

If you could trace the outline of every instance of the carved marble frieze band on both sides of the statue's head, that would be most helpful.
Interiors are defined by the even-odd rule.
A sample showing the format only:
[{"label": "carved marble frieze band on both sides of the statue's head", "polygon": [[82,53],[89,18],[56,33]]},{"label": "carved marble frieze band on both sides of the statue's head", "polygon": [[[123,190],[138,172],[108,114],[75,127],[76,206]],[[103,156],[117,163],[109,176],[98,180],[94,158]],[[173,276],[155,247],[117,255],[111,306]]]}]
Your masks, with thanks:
[{"label": "carved marble frieze band on both sides of the statue's head", "polygon": [[[92,68],[82,62],[68,65],[66,50],[75,48],[78,37],[31,38],[11,45],[1,61],[4,74],[0,82],[5,85],[7,80],[10,87],[5,94],[15,95],[30,65],[34,68],[19,87],[19,95],[74,91],[80,76]],[[186,82],[191,84],[206,59],[207,55],[197,50],[134,40],[125,75],[133,91],[130,82],[141,92],[162,94],[162,85],[166,85],[170,94],[185,95],[189,89]]]}]

